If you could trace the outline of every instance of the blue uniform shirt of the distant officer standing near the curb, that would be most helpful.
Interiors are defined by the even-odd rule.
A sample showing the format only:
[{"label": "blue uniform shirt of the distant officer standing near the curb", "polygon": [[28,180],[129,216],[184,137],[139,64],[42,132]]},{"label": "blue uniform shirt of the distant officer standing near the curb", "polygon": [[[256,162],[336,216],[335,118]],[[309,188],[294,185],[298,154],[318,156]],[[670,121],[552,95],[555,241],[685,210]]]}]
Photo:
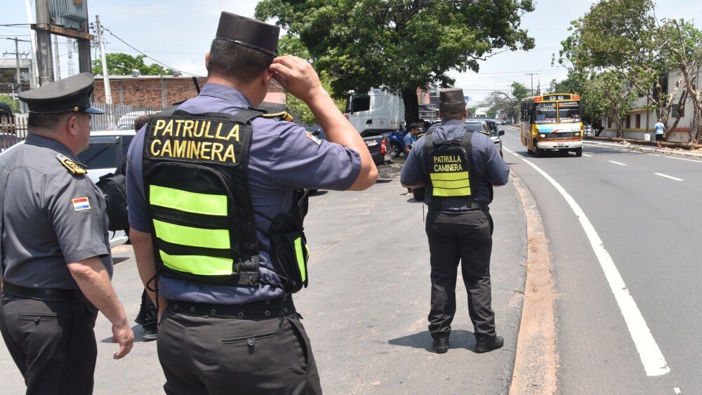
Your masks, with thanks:
[{"label": "blue uniform shirt of the distant officer standing near the curb", "polygon": [[[441,126],[431,128],[434,141],[454,140],[463,138],[465,133],[464,123],[460,119],[449,119],[442,122]],[[425,168],[424,145],[426,135],[414,143],[407,161],[402,168],[400,182],[402,185],[417,185],[421,182],[428,184],[429,173]],[[472,199],[477,201],[490,201],[490,185],[505,185],[509,179],[510,168],[501,158],[492,139],[484,134],[475,132],[470,139],[472,145],[473,163],[475,168],[470,169],[475,180],[470,185]],[[430,203],[431,196],[425,202]]]}]

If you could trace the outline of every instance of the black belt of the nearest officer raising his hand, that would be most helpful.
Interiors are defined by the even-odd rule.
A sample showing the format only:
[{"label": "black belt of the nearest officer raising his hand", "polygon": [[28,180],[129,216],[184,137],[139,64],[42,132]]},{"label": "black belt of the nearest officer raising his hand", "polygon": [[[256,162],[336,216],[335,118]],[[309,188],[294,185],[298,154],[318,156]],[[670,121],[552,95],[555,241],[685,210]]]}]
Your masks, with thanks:
[{"label": "black belt of the nearest officer raising his hand", "polygon": [[262,300],[246,304],[211,304],[166,300],[169,310],[176,313],[222,319],[267,319],[294,313],[292,297]]}]

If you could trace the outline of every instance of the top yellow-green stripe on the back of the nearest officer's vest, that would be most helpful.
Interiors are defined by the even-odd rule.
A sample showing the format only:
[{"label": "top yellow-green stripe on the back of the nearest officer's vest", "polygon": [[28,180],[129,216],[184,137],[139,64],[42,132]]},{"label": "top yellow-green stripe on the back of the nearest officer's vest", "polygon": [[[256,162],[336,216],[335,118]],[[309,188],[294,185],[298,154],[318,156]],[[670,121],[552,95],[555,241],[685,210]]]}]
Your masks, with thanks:
[{"label": "top yellow-green stripe on the back of the nearest officer's vest", "polygon": [[227,196],[198,194],[180,189],[149,185],[149,203],[188,213],[227,215]]}]

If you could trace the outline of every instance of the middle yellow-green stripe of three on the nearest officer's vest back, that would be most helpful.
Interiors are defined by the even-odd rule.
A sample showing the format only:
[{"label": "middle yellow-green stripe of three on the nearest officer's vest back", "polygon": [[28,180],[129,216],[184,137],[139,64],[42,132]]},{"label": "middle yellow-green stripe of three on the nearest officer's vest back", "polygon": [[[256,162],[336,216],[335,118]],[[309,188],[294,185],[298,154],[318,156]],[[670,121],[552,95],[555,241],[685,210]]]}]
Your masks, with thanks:
[{"label": "middle yellow-green stripe of three on the nearest officer's vest back", "polygon": [[154,220],[156,236],[168,243],[203,248],[230,248],[227,229],[184,227]]}]

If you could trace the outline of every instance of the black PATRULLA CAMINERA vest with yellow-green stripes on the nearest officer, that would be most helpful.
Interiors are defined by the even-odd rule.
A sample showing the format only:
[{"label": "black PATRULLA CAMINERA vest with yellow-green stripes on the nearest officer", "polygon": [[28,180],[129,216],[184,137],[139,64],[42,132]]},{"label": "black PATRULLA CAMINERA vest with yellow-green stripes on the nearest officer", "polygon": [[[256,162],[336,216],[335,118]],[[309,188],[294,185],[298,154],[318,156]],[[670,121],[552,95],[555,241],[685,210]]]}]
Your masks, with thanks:
[{"label": "black PATRULLA CAMINERA vest with yellow-green stripes on the nearest officer", "polygon": [[[229,286],[267,283],[259,278],[247,168],[251,121],[274,115],[281,114],[258,109],[235,115],[190,114],[168,109],[150,121],[143,174],[159,275]],[[303,196],[290,213],[274,218],[276,228],[272,225],[269,232],[275,272],[282,279],[270,285],[289,292],[307,285],[307,248],[298,203],[305,205],[306,213]],[[281,237],[283,231],[295,236],[287,248],[280,245],[286,239]]]}]

